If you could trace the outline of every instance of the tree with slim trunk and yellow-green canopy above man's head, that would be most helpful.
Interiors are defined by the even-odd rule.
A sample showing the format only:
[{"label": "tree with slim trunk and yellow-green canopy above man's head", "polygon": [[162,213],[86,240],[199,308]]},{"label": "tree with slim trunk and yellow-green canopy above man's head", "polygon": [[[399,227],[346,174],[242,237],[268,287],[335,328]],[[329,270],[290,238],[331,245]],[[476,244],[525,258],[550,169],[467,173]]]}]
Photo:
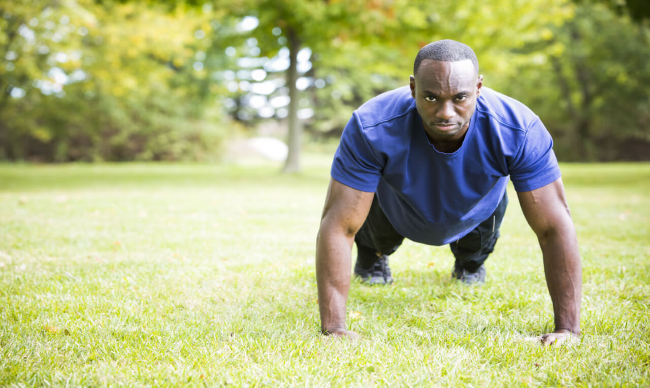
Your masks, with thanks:
[{"label": "tree with slim trunk and yellow-green canopy above man's head", "polygon": [[[300,123],[296,117],[296,53],[309,47],[316,71],[379,74],[396,77],[409,69],[417,49],[439,38],[456,38],[486,53],[487,67],[502,66],[504,55],[494,46],[523,44],[543,25],[568,18],[566,1],[510,0],[476,1],[324,1],[324,0],[242,0],[222,5],[234,14],[254,16],[259,26],[251,32],[262,49],[273,55],[281,45],[289,48],[287,69],[289,96],[289,157],[284,171],[300,169]],[[218,6],[215,5],[215,6]],[[539,13],[543,10],[543,13]],[[507,26],[507,27],[502,27]],[[272,34],[281,29],[283,43]],[[327,79],[322,75],[321,79]],[[406,77],[404,77],[406,79]],[[361,79],[356,86],[363,85]],[[370,82],[367,82],[370,84]],[[363,86],[361,86],[363,88]],[[361,93],[363,95],[365,93]],[[315,95],[317,95],[315,93]],[[322,95],[322,94],[321,94]],[[359,95],[356,95],[359,97]],[[365,96],[364,96],[365,97]],[[349,114],[348,114],[349,115]]]}]

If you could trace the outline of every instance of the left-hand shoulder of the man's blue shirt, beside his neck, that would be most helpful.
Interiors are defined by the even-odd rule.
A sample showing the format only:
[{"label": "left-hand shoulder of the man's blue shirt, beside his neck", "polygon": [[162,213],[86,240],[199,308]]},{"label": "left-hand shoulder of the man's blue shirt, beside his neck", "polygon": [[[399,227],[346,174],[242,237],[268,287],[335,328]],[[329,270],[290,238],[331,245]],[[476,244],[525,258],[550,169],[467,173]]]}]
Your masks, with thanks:
[{"label": "left-hand shoulder of the man's blue shirt, beside his neck", "polygon": [[415,99],[409,86],[402,86],[373,97],[356,110],[363,128],[398,121],[415,110]]}]

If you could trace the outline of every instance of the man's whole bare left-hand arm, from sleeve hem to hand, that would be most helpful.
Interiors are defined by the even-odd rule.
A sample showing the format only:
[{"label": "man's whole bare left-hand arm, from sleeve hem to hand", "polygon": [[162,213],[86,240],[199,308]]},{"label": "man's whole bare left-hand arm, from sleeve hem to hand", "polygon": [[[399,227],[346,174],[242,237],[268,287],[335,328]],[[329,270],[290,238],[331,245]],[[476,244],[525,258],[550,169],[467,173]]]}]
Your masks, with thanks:
[{"label": "man's whole bare left-hand arm, from sleeve hem to hand", "polygon": [[345,327],[345,303],[350,289],[354,235],[365,221],[374,193],[330,180],[316,240],[316,281],[320,328],[337,337],[357,334]]}]

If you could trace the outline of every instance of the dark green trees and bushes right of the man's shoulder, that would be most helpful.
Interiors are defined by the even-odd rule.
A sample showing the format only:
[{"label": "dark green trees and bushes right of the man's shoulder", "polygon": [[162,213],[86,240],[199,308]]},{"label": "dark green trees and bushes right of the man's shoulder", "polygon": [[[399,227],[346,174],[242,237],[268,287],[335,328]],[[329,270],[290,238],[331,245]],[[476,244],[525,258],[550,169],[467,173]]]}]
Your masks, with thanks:
[{"label": "dark green trees and bushes right of the man's shoulder", "polygon": [[541,117],[562,160],[647,160],[649,29],[586,3],[519,54],[497,83]]}]

